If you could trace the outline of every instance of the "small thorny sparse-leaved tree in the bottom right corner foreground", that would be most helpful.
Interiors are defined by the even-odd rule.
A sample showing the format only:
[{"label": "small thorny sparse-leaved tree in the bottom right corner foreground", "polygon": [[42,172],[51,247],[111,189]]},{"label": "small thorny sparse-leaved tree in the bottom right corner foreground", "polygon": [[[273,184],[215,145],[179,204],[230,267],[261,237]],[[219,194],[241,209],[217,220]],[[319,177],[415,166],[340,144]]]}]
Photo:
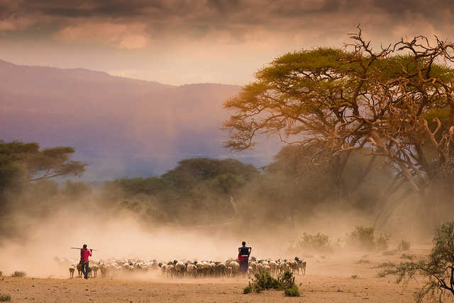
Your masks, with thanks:
[{"label": "small thorny sparse-leaved tree in the bottom right corner foreground", "polygon": [[416,274],[428,278],[423,288],[416,293],[416,302],[422,302],[425,297],[441,302],[445,290],[454,296],[454,222],[444,223],[437,228],[432,252],[426,261],[402,263],[397,272],[398,283],[404,280],[408,282]]}]

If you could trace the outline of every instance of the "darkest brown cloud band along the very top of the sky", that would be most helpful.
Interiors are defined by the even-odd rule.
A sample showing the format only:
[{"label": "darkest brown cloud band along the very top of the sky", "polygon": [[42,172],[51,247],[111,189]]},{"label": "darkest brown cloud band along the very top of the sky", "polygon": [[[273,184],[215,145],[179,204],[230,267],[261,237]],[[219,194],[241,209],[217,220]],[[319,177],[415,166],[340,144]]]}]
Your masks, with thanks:
[{"label": "darkest brown cloud band along the very top of the sky", "polygon": [[[150,23],[172,22],[177,19],[182,28],[191,30],[207,22],[211,28],[229,24],[231,28],[238,25],[257,25],[264,28],[275,28],[275,24],[284,25],[323,21],[333,24],[339,19],[356,23],[371,13],[389,16],[394,24],[405,21],[406,13],[419,14],[419,18],[432,22],[445,22],[447,15],[453,15],[452,1],[426,0],[22,0],[4,1],[0,4],[0,16],[6,18],[8,13],[21,16],[40,16],[52,18],[56,24],[61,21],[67,24],[67,18],[102,18],[121,19],[124,22],[143,21]],[[401,20],[396,20],[400,15]],[[323,18],[323,19],[320,19]],[[61,19],[61,20],[59,20]],[[77,22],[77,21],[74,21]],[[172,26],[172,25],[170,25]],[[392,26],[392,24],[387,24]],[[243,28],[244,30],[244,28]]]}]

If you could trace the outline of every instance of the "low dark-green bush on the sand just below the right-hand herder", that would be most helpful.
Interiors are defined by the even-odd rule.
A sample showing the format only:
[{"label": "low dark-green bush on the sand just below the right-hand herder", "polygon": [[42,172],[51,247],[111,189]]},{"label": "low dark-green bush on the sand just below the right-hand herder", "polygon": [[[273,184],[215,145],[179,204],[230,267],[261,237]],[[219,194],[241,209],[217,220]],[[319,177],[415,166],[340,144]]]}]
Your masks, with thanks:
[{"label": "low dark-green bush on the sand just below the right-hand herder", "polygon": [[255,273],[253,280],[244,288],[243,293],[260,293],[262,290],[284,290],[286,296],[299,297],[299,289],[295,284],[295,278],[293,273],[289,271],[282,273],[277,279],[265,271]]}]

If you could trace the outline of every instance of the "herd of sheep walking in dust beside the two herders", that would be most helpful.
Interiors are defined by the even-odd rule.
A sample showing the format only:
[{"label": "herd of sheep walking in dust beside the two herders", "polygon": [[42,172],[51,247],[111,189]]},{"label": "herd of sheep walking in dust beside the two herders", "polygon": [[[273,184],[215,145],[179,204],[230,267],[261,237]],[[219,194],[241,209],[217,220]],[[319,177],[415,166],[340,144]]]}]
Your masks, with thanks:
[{"label": "herd of sheep walking in dust beside the two herders", "polygon": [[[67,259],[56,259],[60,265],[71,264]],[[70,265],[70,278],[74,278],[77,270],[79,277],[82,277],[82,268],[79,263]],[[248,275],[253,275],[264,271],[271,275],[279,275],[290,271],[294,274],[306,274],[306,261],[295,257],[294,260],[279,259],[272,261],[270,259],[260,260],[254,257],[250,258]],[[107,261],[90,261],[89,277],[96,278],[98,272],[102,278],[120,276],[126,273],[160,273],[165,278],[189,277],[189,278],[231,278],[240,273],[240,263],[238,260],[228,259],[227,261],[168,261],[159,262],[156,260],[147,261],[144,259],[125,258],[121,260],[109,259]]]}]

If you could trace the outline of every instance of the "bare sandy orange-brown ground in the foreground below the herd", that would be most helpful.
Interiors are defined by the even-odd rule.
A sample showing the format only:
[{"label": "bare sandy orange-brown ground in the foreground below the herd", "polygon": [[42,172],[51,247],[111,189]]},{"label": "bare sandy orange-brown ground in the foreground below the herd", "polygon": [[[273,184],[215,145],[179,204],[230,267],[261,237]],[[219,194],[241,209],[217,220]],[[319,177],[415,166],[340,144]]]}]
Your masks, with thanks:
[{"label": "bare sandy orange-brown ground in the foreground below the herd", "polygon": [[[409,253],[421,258],[428,247]],[[243,295],[246,278],[170,280],[156,276],[89,280],[2,277],[0,292],[11,295],[11,302],[414,302],[421,280],[398,285],[395,275],[377,277],[383,270],[375,268],[377,265],[399,263],[401,255],[306,256],[307,275],[297,277],[303,295],[294,298],[277,291]],[[445,302],[454,300],[446,297]]]}]

